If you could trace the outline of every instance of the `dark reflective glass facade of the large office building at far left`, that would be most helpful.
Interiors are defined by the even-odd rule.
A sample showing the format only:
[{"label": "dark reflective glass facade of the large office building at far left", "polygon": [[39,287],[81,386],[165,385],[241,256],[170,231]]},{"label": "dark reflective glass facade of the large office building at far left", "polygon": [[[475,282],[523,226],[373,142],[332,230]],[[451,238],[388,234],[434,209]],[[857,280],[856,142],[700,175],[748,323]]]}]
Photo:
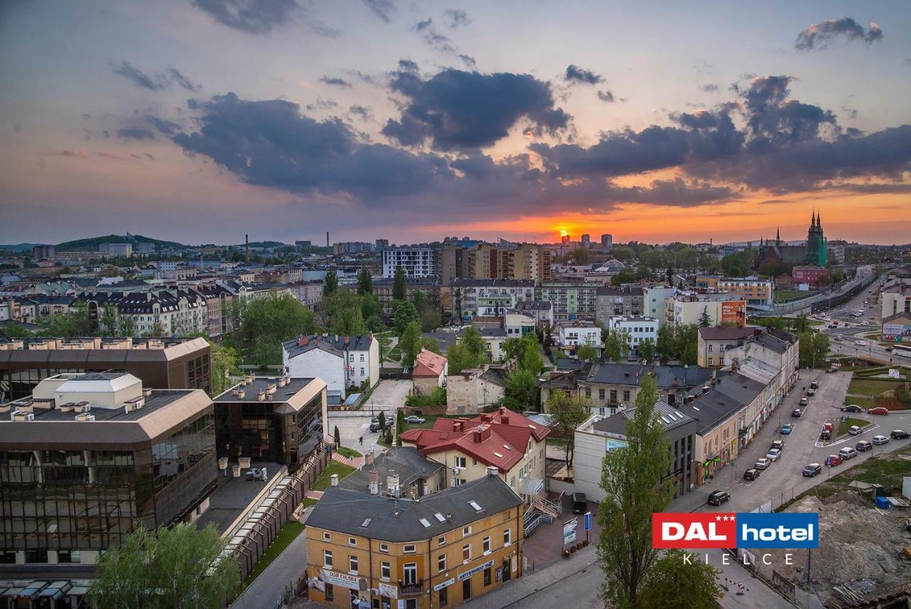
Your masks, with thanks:
[{"label": "dark reflective glass facade of the large office building at far left", "polygon": [[209,409],[151,446],[0,451],[0,547],[102,550],[178,520],[215,486],[214,445]]}]

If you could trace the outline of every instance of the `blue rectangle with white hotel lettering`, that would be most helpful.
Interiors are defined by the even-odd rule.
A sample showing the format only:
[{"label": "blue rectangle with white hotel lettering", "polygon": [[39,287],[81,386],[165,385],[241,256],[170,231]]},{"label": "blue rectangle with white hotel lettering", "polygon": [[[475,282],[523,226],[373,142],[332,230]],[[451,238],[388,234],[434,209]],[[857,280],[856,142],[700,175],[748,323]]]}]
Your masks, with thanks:
[{"label": "blue rectangle with white hotel lettering", "polygon": [[818,548],[818,513],[738,513],[738,548]]}]

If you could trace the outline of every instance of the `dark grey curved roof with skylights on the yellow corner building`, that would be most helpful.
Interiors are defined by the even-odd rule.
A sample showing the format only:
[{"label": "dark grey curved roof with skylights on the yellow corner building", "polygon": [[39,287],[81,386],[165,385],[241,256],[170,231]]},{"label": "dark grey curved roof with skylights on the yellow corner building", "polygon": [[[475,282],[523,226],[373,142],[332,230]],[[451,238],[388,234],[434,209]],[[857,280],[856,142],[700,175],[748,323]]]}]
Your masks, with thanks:
[{"label": "dark grey curved roof with skylights on the yellow corner building", "polygon": [[[480,511],[469,501],[476,501]],[[331,486],[313,508],[307,526],[385,542],[421,542],[521,503],[506,482],[491,475],[425,495],[420,500],[395,500]],[[424,526],[422,519],[430,526]],[[367,526],[363,526],[365,522]]]}]

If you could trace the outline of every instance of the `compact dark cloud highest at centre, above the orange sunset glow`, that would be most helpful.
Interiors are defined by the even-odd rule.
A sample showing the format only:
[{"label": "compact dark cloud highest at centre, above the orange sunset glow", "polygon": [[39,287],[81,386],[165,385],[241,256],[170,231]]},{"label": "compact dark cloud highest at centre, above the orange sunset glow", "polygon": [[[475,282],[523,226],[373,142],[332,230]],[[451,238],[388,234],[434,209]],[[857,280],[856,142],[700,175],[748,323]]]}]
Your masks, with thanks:
[{"label": "compact dark cloud highest at centre, above the orange sunset glow", "polygon": [[527,119],[536,133],[565,129],[570,119],[554,107],[548,83],[527,74],[449,68],[424,80],[415,72],[399,71],[390,87],[408,101],[383,133],[404,146],[429,139],[435,150],[477,148],[505,138],[520,119]]}]

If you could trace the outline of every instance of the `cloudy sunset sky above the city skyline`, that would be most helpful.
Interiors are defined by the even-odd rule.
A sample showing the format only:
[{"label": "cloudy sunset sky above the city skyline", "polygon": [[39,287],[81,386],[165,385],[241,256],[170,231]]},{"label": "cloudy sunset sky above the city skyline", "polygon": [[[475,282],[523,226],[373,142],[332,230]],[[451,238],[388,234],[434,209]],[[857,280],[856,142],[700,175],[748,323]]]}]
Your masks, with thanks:
[{"label": "cloudy sunset sky above the city skyline", "polygon": [[0,243],[911,242],[903,2],[0,3]]}]

